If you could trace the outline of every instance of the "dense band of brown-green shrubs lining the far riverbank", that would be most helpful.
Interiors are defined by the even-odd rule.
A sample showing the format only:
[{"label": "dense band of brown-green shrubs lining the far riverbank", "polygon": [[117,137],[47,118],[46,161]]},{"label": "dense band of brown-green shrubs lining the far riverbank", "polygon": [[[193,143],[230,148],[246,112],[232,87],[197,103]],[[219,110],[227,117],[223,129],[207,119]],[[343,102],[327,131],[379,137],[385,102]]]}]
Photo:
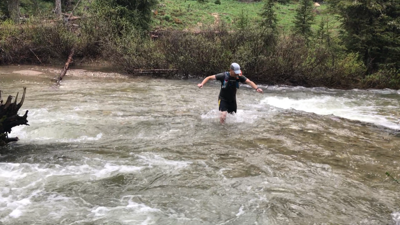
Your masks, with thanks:
[{"label": "dense band of brown-green shrubs lining the far riverbank", "polygon": [[397,71],[367,74],[357,54],[290,33],[275,35],[255,26],[232,30],[220,23],[197,33],[164,31],[154,39],[137,30],[114,35],[106,24],[95,28],[93,23],[98,24],[82,20],[74,32],[60,22],[7,26],[1,38],[0,65],[61,68],[74,49],[72,67],[108,64],[113,72],[125,74],[136,74],[137,69],[173,69],[175,77],[204,78],[226,71],[235,61],[248,78],[268,85],[400,89]]}]

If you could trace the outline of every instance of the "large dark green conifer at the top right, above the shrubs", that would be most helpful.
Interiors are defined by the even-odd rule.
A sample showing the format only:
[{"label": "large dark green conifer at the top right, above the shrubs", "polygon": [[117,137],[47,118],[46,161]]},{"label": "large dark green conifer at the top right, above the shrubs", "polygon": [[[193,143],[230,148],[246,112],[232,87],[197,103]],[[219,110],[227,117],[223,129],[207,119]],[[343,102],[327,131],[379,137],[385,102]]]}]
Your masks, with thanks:
[{"label": "large dark green conifer at the top right, above the shrubs", "polygon": [[331,0],[341,19],[341,39],[359,52],[370,73],[380,67],[400,69],[399,0]]}]

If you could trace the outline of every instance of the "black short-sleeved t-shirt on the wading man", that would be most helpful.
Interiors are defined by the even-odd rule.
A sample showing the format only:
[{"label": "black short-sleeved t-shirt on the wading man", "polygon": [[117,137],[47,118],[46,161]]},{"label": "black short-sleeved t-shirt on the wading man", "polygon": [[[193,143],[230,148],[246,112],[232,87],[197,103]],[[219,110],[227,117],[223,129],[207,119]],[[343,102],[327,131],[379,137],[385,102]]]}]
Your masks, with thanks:
[{"label": "black short-sleeved t-shirt on the wading man", "polygon": [[229,75],[228,78],[229,80],[225,82],[225,73],[218,73],[215,75],[215,79],[221,81],[221,90],[219,91],[218,99],[236,101],[236,85],[239,85],[238,82],[244,83],[247,78],[243,75],[237,77]]}]

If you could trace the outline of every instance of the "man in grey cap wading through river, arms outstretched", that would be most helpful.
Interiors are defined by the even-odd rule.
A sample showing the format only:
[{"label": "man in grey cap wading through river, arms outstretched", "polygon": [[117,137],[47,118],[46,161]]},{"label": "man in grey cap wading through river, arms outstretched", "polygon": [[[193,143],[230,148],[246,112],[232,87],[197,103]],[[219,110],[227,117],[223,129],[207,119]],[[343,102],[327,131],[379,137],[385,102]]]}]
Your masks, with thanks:
[{"label": "man in grey cap wading through river, arms outstretched", "polygon": [[258,88],[253,81],[247,79],[241,74],[240,66],[235,62],[230,64],[229,72],[222,72],[216,75],[207,76],[201,83],[197,84],[197,86],[199,88],[203,87],[203,85],[210,79],[221,81],[221,90],[219,91],[218,96],[218,108],[221,112],[219,116],[219,122],[221,124],[225,123],[226,112],[236,113],[236,90],[239,88],[239,82],[247,83],[257,92],[262,93],[261,88]]}]

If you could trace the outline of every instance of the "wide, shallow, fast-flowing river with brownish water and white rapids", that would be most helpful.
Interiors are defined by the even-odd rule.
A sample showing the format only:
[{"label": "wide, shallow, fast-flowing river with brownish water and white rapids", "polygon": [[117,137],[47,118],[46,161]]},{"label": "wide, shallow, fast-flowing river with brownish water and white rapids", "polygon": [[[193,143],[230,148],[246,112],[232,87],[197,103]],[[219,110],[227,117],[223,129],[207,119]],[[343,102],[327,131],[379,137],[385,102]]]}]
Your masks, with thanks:
[{"label": "wide, shallow, fast-flowing river with brownish water and white rapids", "polygon": [[217,82],[80,74],[0,67],[0,224],[400,224],[400,91],[243,85],[220,125]]}]

